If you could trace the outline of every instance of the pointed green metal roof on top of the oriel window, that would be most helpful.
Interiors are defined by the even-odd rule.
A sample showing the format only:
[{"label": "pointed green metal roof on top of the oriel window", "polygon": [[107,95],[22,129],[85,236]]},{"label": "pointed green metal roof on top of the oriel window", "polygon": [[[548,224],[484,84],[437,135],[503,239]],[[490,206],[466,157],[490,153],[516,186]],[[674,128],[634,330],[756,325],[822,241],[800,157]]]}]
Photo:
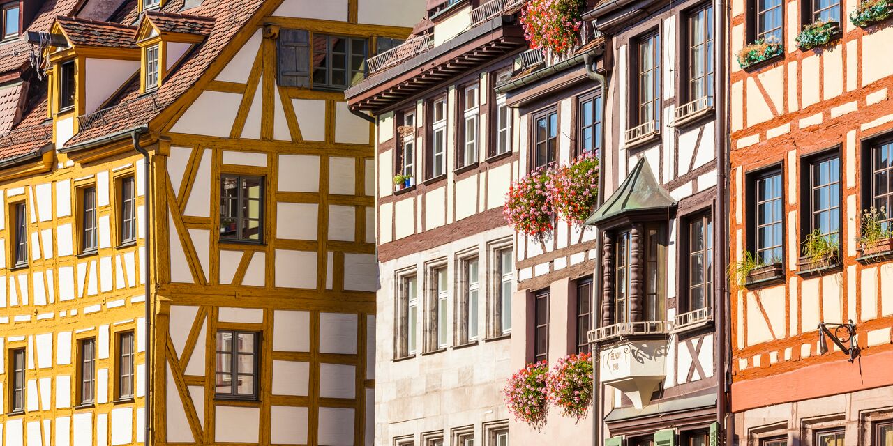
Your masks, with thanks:
[{"label": "pointed green metal roof on top of the oriel window", "polygon": [[648,161],[642,157],[620,187],[586,219],[586,224],[597,225],[630,212],[656,211],[675,206],[676,200],[657,182]]}]

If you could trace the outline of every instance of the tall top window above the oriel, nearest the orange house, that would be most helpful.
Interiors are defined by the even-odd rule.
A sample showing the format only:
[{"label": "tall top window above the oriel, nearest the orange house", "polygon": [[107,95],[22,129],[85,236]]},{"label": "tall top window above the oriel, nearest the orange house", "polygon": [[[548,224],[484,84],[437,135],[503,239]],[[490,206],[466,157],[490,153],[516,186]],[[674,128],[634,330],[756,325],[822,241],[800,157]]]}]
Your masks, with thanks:
[{"label": "tall top window above the oriel, nearest the orange house", "polygon": [[689,14],[689,101],[714,99],[714,5]]}]

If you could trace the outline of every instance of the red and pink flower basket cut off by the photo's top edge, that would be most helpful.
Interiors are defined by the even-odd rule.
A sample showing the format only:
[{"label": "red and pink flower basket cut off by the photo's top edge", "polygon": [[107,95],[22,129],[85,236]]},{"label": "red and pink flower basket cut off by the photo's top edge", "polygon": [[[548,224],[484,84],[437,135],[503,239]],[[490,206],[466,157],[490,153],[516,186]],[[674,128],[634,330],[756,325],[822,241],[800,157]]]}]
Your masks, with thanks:
[{"label": "red and pink flower basket cut off by the photo's top edge", "polygon": [[521,12],[524,38],[531,49],[562,54],[576,45],[583,25],[583,0],[529,0]]}]

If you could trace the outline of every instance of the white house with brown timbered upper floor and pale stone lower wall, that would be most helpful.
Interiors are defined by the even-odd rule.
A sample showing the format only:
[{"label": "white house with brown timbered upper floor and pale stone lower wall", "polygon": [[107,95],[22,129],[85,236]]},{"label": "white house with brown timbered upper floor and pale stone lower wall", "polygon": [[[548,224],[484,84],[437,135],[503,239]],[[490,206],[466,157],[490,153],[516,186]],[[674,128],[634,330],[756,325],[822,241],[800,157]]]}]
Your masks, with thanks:
[{"label": "white house with brown timbered upper floor and pale stone lower wall", "polygon": [[517,327],[502,211],[519,143],[494,87],[524,45],[520,6],[429,0],[413,35],[346,91],[376,120],[376,444],[509,442],[501,390]]}]

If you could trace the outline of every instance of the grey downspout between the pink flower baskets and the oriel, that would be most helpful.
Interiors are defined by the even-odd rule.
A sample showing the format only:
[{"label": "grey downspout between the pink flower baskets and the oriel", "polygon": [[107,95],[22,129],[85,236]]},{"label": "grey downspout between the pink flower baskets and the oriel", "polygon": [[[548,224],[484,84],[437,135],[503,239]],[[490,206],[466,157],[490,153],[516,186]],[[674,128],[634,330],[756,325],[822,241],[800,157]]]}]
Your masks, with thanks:
[{"label": "grey downspout between the pink flower baskets and the oriel", "polygon": [[[605,98],[607,97],[607,85],[608,85],[607,78],[605,78],[605,75],[597,73],[597,71],[595,70],[595,61],[592,56],[593,56],[593,54],[585,54],[583,56],[583,64],[586,67],[586,75],[590,79],[598,82],[598,85],[601,87],[602,92],[601,92],[601,95],[599,95],[599,102],[602,103],[602,116],[603,116],[602,120],[604,120],[605,119],[604,118],[604,116],[605,116]],[[602,153],[600,153],[600,154],[602,155],[602,157],[604,157],[604,155],[605,155],[605,134],[606,133],[607,132],[602,131],[602,140],[601,140],[601,145],[600,145],[601,151],[602,151]],[[596,209],[598,209],[598,207],[601,206],[602,199],[605,196],[605,192],[604,192],[604,190],[605,190],[605,176],[602,174],[602,169],[603,169],[602,166],[603,165],[604,165],[604,162],[602,162],[602,160],[599,159],[598,160],[598,194],[597,194],[597,199],[596,199]],[[600,250],[601,245],[602,245],[602,235],[601,234],[602,234],[602,232],[596,228],[596,250]],[[602,262],[597,261],[596,262],[596,277],[601,277],[601,270],[602,270]],[[593,283],[598,283],[598,281],[593,280]],[[601,295],[601,293],[595,293],[595,294]],[[597,303],[597,298],[595,295],[592,296],[592,300],[593,300],[593,302],[592,302],[593,304]],[[595,310],[596,308],[601,308],[601,307],[597,306],[597,305],[592,305],[591,308],[593,310]],[[593,311],[593,314],[595,314],[595,311]],[[593,320],[592,320],[591,328],[593,328],[593,329],[597,328],[599,318],[592,318],[592,319]],[[600,396],[599,390],[601,390],[601,385],[599,383],[600,378],[598,376],[598,372],[599,372],[599,367],[598,367],[599,366],[599,364],[598,364],[599,358],[598,358],[598,356],[599,356],[598,344],[595,344],[592,349],[592,405],[593,405],[593,408],[592,408],[592,418],[593,418],[592,419],[592,444],[593,444],[593,446],[598,446],[599,444],[601,444],[601,439],[599,438],[599,435],[601,435],[601,427],[602,427],[602,417],[601,417],[602,404],[599,399],[599,396]]]}]

